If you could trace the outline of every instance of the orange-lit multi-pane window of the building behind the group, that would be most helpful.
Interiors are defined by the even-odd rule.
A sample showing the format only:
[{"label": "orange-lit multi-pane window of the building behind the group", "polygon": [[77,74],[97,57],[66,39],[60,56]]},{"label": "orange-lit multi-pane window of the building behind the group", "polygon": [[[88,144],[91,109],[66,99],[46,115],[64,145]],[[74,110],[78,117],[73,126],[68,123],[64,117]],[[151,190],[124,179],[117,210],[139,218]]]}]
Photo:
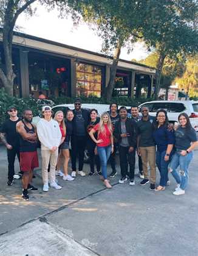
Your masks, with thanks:
[{"label": "orange-lit multi-pane window of the building behind the group", "polygon": [[77,63],[77,95],[101,96],[102,72],[95,65]]}]

